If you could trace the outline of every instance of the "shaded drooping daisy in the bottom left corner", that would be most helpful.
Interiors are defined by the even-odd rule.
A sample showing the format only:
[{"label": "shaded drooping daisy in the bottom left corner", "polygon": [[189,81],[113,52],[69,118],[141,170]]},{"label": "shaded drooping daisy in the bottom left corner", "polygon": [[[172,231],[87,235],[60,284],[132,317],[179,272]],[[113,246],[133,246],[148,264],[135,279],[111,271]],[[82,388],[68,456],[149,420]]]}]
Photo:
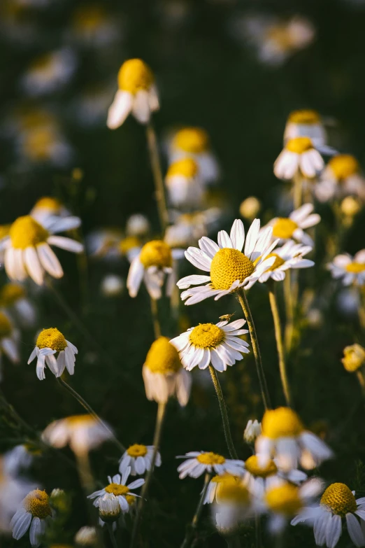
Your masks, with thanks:
[{"label": "shaded drooping daisy in the bottom left corner", "polygon": [[34,489],[22,500],[22,505],[15,512],[10,522],[13,538],[19,540],[29,529],[31,546],[39,546],[45,528],[52,519],[49,497],[45,491]]}]

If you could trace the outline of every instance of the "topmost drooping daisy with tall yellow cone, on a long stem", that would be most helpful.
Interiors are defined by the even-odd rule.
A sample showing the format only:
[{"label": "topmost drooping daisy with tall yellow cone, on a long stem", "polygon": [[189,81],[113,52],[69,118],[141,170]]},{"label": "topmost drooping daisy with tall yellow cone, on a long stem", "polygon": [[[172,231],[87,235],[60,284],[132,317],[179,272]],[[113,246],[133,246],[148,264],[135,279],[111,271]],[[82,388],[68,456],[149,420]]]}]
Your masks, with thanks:
[{"label": "topmost drooping daisy with tall yellow cone, on a long stem", "polygon": [[152,71],[141,59],[128,59],[118,73],[118,91],[108,111],[109,129],[120,127],[129,113],[141,124],[159,110],[159,99]]}]

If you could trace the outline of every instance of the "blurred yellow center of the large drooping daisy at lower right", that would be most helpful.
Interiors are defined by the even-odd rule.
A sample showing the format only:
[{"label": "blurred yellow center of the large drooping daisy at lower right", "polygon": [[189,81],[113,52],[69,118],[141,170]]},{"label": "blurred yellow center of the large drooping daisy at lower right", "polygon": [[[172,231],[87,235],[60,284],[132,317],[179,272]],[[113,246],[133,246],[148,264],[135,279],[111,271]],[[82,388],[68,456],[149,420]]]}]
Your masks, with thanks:
[{"label": "blurred yellow center of the large drooping daisy at lower right", "polygon": [[289,407],[268,409],[262,419],[262,434],[272,440],[278,437],[296,437],[303,432],[303,424]]}]

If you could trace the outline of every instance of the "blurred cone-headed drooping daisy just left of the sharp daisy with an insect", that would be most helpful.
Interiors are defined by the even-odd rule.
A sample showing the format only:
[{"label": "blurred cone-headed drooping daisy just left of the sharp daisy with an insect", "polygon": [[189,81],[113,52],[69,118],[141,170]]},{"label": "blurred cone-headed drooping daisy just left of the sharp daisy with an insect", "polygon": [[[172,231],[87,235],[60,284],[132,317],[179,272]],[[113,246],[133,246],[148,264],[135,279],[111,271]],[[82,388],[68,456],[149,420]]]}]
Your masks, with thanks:
[{"label": "blurred cone-headed drooping daisy just left of the sharp daisy with an insect", "polygon": [[176,396],[180,405],[187,405],[192,379],[167,337],[159,337],[152,343],[142,375],[148,400],[166,403],[171,396]]}]

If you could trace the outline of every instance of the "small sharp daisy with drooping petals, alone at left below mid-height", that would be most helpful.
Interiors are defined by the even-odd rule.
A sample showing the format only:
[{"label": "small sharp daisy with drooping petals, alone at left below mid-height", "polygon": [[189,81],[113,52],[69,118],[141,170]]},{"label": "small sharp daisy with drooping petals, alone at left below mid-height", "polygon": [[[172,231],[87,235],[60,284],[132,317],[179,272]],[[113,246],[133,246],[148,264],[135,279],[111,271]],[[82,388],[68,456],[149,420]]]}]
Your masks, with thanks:
[{"label": "small sharp daisy with drooping petals, alone at left below mid-height", "polygon": [[36,346],[29,356],[28,364],[37,358],[36,373],[40,381],[45,379],[46,365],[56,377],[61,377],[65,367],[69,374],[73,375],[77,353],[76,346],[66,341],[57,328],[43,329],[37,337]]}]

